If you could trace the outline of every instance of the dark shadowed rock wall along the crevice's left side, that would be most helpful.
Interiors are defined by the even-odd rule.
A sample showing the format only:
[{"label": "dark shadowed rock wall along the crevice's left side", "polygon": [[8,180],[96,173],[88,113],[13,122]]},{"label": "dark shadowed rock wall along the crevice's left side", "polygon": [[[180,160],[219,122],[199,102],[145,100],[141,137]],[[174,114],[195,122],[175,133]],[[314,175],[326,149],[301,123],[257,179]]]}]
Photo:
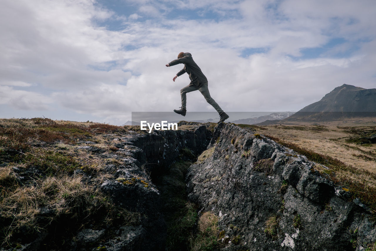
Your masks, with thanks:
[{"label": "dark shadowed rock wall along the crevice's left side", "polygon": [[[153,176],[164,173],[177,159],[182,148],[195,155],[206,149],[211,132],[199,125],[195,130],[154,131],[132,133],[118,138],[115,146],[126,153],[125,165],[118,166],[114,175],[100,185],[118,207],[141,213],[138,226],[123,226],[112,230],[112,237],[100,243],[107,251],[164,250],[166,223],[161,214],[161,194],[153,184]],[[114,170],[114,165],[106,169]]]}]

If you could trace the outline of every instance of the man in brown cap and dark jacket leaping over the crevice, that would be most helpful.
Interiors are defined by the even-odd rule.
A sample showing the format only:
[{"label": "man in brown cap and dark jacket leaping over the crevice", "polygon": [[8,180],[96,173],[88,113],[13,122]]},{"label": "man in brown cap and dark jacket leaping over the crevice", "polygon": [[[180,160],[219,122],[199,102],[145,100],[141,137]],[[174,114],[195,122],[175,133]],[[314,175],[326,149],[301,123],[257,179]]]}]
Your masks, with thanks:
[{"label": "man in brown cap and dark jacket leaping over the crevice", "polygon": [[175,82],[177,77],[183,75],[184,73],[188,73],[191,83],[180,90],[180,95],[182,97],[182,107],[179,107],[181,108],[180,110],[174,110],[174,112],[185,116],[185,113],[187,111],[186,93],[199,90],[206,99],[206,102],[211,104],[214,107],[214,109],[217,110],[217,112],[219,113],[220,119],[218,123],[228,119],[229,115],[223,112],[221,107],[218,106],[217,102],[215,102],[215,100],[210,96],[208,89],[208,79],[202,73],[200,67],[193,61],[192,54],[190,54],[189,52],[180,52],[179,55],[177,55],[177,59],[166,64],[166,66],[169,67],[176,64],[184,64],[184,68],[180,70],[172,80]]}]

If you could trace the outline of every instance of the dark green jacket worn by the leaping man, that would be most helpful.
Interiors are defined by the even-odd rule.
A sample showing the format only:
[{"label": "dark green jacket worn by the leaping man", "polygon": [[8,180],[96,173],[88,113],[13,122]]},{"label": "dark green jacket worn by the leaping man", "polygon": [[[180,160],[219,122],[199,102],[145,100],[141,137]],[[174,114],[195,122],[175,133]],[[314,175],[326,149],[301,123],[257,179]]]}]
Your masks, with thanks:
[{"label": "dark green jacket worn by the leaping man", "polygon": [[203,83],[207,83],[208,79],[202,73],[200,67],[193,61],[192,54],[189,52],[184,53],[184,57],[175,59],[168,63],[170,66],[176,64],[184,64],[184,68],[180,70],[176,75],[179,77],[184,73],[188,73],[191,80],[190,84],[194,84],[197,87],[201,87]]}]

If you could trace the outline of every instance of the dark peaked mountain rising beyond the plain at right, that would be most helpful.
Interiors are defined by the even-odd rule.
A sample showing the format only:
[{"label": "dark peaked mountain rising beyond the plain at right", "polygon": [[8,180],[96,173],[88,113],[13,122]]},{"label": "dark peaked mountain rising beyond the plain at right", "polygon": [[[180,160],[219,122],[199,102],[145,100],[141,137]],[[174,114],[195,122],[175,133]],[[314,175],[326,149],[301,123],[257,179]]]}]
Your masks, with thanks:
[{"label": "dark peaked mountain rising beyond the plain at right", "polygon": [[343,84],[284,121],[332,121],[376,116],[376,89]]}]

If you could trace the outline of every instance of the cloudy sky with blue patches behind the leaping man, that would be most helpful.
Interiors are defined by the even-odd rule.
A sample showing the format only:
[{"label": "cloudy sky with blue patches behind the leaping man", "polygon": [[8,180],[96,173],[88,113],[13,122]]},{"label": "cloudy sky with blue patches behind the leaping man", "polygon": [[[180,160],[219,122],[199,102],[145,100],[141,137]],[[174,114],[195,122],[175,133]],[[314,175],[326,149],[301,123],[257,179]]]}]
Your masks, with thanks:
[{"label": "cloudy sky with blue patches behind the leaping man", "polygon": [[[225,111],[297,111],[376,86],[374,0],[2,0],[0,118],[121,125],[180,106],[191,52]],[[188,111],[214,111],[199,92]],[[177,118],[180,119],[180,118]]]}]

